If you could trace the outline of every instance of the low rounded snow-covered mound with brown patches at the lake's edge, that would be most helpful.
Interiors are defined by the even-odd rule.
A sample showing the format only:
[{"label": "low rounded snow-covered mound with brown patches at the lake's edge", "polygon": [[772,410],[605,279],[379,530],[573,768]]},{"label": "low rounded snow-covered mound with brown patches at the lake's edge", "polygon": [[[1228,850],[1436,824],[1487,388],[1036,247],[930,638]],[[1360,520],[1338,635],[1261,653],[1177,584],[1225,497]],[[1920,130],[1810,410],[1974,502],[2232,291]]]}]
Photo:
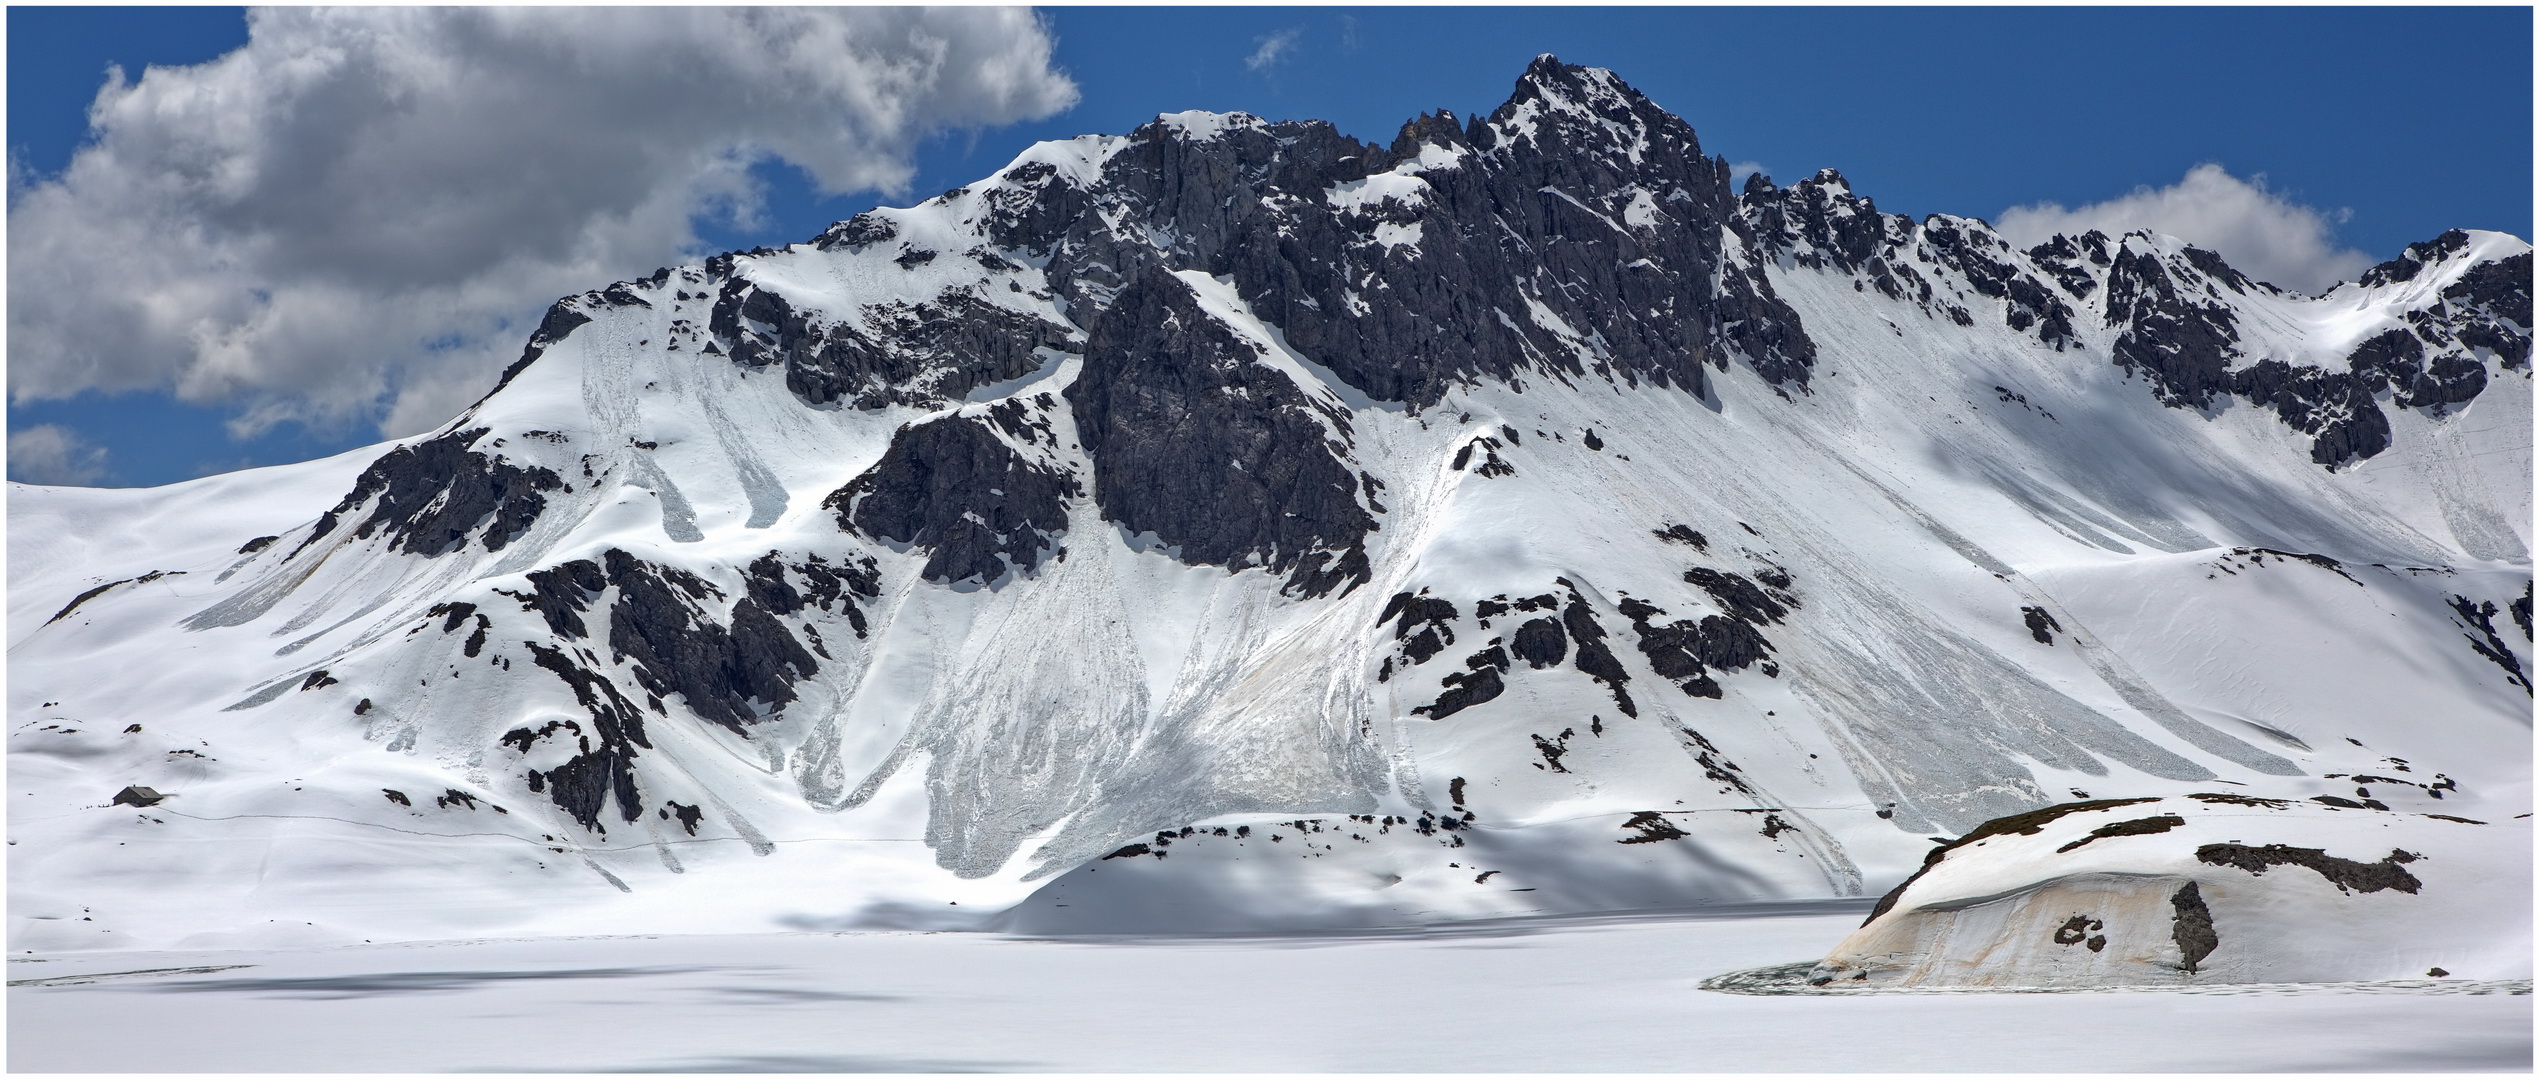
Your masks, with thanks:
[{"label": "low rounded snow-covered mound with brown patches at the lake's edge", "polygon": [[1942,844],[1815,986],[2529,978],[2526,821],[2247,795],[2062,803]]}]

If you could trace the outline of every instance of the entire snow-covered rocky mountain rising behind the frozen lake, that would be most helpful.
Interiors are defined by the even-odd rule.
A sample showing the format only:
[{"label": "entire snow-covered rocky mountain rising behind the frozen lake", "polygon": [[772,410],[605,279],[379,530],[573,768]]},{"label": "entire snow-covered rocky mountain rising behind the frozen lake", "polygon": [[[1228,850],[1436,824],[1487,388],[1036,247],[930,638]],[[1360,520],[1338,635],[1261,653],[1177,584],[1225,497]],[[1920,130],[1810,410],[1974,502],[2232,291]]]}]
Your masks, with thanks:
[{"label": "entire snow-covered rocky mountain rising behind the frozen lake", "polygon": [[421,437],[13,485],[10,943],[1859,897],[2189,793],[2526,828],[2529,341],[2514,236],[2321,297],[2021,252],[1737,191],[1549,56],[1391,145],[1044,142],[559,300]]}]

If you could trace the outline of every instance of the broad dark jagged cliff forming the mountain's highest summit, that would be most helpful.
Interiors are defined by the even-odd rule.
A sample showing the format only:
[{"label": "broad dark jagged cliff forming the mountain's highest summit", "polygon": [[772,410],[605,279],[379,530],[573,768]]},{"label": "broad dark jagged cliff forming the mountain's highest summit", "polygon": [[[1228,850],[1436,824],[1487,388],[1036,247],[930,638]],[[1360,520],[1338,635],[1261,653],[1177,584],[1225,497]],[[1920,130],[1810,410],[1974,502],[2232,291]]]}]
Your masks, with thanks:
[{"label": "broad dark jagged cliff forming the mountain's highest summit", "polygon": [[[1744,229],[1727,163],[1600,71],[1539,58],[1488,119],[1419,117],[1391,147],[1323,122],[1203,140],[1155,122],[1130,140],[1092,191],[1066,191],[1125,208],[1120,226],[1064,213],[1066,198],[995,219],[1000,244],[1051,254],[1069,302],[1099,307],[1148,264],[1203,269],[1351,386],[1414,407],[1523,374],[1699,391],[1704,363],[1732,356],[1805,386],[1815,358],[1762,274],[1724,257],[1721,236]],[[1422,152],[1460,165],[1424,170],[1414,201],[1328,198]],[[1379,226],[1417,239],[1389,244]]]}]

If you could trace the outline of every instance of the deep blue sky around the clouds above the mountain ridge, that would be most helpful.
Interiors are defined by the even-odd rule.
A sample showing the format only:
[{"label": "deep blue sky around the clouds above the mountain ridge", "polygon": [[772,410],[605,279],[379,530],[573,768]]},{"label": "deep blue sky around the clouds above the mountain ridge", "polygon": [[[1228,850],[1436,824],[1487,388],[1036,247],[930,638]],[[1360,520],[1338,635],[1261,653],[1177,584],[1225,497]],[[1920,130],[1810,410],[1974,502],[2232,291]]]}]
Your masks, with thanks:
[{"label": "deep blue sky around the clouds above the mountain ridge", "polygon": [[[1488,112],[1544,51],[1615,69],[1716,155],[1782,180],[1841,168],[1884,211],[2102,203],[2217,163],[2318,208],[2333,244],[2371,259],[2450,226],[2531,234],[2526,8],[1056,8],[1046,25],[1074,107],[919,142],[904,196],[820,198],[805,170],[759,163],[759,221],[701,213],[701,246],[807,239],[873,203],[970,183],[1033,140],[1125,132],[1155,112],[1318,117],[1389,140],[1422,109]],[[246,43],[226,8],[10,8],[8,30],[13,208],[89,137],[107,64],[137,76]],[[289,419],[241,440],[229,429],[241,402],[18,396],[13,447],[51,424],[89,455],[81,478],[109,485],[340,452],[376,442],[381,417]]]}]

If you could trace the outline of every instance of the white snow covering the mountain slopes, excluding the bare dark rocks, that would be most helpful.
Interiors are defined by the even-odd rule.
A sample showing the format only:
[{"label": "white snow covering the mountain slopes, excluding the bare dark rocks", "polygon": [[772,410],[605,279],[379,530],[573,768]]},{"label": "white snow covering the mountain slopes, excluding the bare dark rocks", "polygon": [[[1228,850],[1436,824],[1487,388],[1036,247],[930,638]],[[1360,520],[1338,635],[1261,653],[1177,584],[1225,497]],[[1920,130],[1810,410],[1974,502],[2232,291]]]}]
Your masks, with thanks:
[{"label": "white snow covering the mountain slopes, excluding the bare dark rocks", "polygon": [[[1165,122],[1203,140],[1254,119]],[[1112,152],[1074,140],[1018,163],[1082,183]],[[1417,170],[1450,165],[1330,198],[1417,198]],[[876,211],[891,244],[805,244],[736,274],[858,328],[947,295],[1074,325],[1028,252],[983,262],[998,183]],[[1643,193],[1615,229],[1661,211]],[[2397,287],[2222,300],[2252,348],[2328,363],[2473,259],[2526,252],[2473,241]],[[894,262],[906,246],[937,257]],[[843,534],[823,498],[901,424],[1038,394],[1056,399],[1056,437],[1013,447],[1092,478],[1061,399],[1082,361],[1044,351],[1036,374],[937,409],[815,409],[779,368],[701,351],[711,300],[675,297],[696,267],[632,285],[650,307],[581,297],[589,325],[447,427],[482,427],[480,452],[571,485],[500,551],[424,559],[335,529],[295,557],[388,447],[150,490],[10,485],[10,950],[1366,928],[1874,897],[1919,867],[1925,836],[2003,813],[2196,790],[2305,800],[2351,788],[2331,773],[2392,760],[2458,780],[2437,803],[2384,790],[2397,811],[2529,813],[2529,689],[2453,610],[2526,595],[2526,368],[2491,363],[2488,389],[2443,414],[2392,409],[2392,450],[2326,470],[2260,409],[2161,407],[2110,361],[2097,297],[2077,302],[2079,343],[2054,351],[1963,290],[1973,328],[1843,274],[1767,272],[1818,343],[1805,394],[1734,368],[1704,396],[1523,379],[1427,409],[1346,386],[1231,285],[1183,272],[1259,363],[1348,417],[1333,440],[1384,485],[1371,582],[1320,600],[1183,564],[1092,498],[1069,508],[1066,559],[988,587],[924,582],[924,551]],[[1589,361],[1602,348],[1551,323]],[[1503,442],[1490,452],[1513,475],[1450,465],[1478,437]],[[1671,526],[1706,549],[1653,536]],[[256,536],[279,541],[241,554]],[[543,625],[510,595],[609,549],[726,597],[767,551],[868,554],[881,572],[868,635],[802,615],[828,661],[746,737],[680,701],[650,717],[645,806],[701,806],[693,836],[655,813],[587,831],[500,742],[587,719],[531,668],[520,643]],[[1721,671],[1719,699],[1658,678],[1620,615],[1625,597],[1663,607],[1661,625],[1719,612],[1691,567],[1787,572],[1798,597],[1762,628],[1770,673]],[[1495,701],[1414,714],[1531,618],[1483,623],[1478,602],[1567,595],[1561,579],[1633,673],[1638,717],[1574,666],[1521,663]],[[109,582],[127,584],[56,620]],[[1455,640],[1409,666],[1379,612],[1422,590],[1457,607]],[[485,656],[429,615],[444,602],[493,620]],[[2052,615],[2052,643],[2024,607]],[[587,618],[592,663],[612,671],[607,612]],[[2526,666],[2521,630],[2496,628]],[[124,785],[170,795],[109,806]],[[1168,856],[1104,859],[1130,844]],[[2491,902],[2526,915],[2526,887]]]}]

